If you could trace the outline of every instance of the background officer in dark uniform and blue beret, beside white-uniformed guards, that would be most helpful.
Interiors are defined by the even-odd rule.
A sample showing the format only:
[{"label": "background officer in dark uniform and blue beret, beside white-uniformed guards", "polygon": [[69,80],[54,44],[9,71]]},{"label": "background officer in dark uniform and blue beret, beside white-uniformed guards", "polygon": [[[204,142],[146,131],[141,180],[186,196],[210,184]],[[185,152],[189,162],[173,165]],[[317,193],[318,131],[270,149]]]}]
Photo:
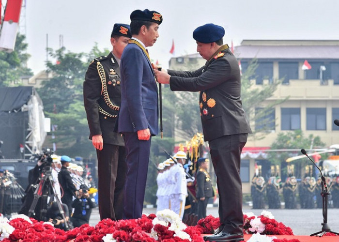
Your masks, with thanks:
[{"label": "background officer in dark uniform and blue beret, beside white-uniformed guards", "polygon": [[209,160],[206,158],[199,158],[199,169],[197,172],[197,199],[198,199],[198,220],[206,217],[206,207],[210,197],[214,197],[211,177],[207,172]]}]

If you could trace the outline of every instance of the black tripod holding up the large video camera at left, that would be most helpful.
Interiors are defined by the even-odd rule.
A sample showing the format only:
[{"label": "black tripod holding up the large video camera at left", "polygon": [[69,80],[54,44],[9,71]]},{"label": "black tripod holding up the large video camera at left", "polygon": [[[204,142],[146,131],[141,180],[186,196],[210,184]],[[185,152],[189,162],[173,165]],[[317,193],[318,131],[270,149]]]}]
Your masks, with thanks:
[{"label": "black tripod holding up the large video camera at left", "polygon": [[[51,190],[52,189],[52,190]],[[34,191],[34,199],[32,201],[30,210],[28,212],[28,216],[31,217],[31,214],[35,215],[35,207],[38,203],[39,198],[41,198],[41,209],[39,212],[39,219],[40,221],[46,221],[47,220],[47,197],[53,198],[51,192],[53,192],[54,197],[56,198],[56,202],[58,205],[58,209],[60,214],[62,215],[62,219],[64,221],[64,225],[66,230],[69,229],[69,224],[66,221],[66,217],[65,217],[65,213],[62,209],[62,203],[59,199],[59,197],[57,196],[55,187],[54,187],[54,181],[53,181],[53,177],[52,177],[52,172],[51,172],[51,167],[44,167],[41,175],[40,175],[40,182],[38,184],[38,186],[36,187],[35,191]]]}]

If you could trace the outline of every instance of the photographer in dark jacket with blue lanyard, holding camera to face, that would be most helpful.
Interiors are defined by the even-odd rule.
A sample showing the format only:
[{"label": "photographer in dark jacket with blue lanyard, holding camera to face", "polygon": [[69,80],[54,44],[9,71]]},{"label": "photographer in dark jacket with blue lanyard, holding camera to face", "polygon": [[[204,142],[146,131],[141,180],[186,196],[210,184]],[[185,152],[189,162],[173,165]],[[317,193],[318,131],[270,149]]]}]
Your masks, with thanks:
[{"label": "photographer in dark jacket with blue lanyard, holding camera to face", "polygon": [[74,208],[74,212],[71,217],[73,226],[80,227],[83,224],[88,224],[92,208],[95,206],[90,198],[88,187],[85,184],[80,185],[77,198],[73,201],[72,207]]}]

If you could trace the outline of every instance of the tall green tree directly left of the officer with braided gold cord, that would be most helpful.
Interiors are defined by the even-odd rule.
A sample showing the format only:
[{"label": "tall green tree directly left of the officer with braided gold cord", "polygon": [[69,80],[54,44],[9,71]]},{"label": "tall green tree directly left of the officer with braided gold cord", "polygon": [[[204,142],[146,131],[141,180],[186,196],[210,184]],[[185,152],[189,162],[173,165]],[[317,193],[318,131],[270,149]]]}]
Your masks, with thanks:
[{"label": "tall green tree directly left of the officer with braided gold cord", "polygon": [[90,157],[94,149],[88,140],[89,128],[82,94],[82,83],[89,65],[88,55],[66,52],[64,47],[55,52],[49,49],[49,55],[57,60],[56,64],[47,62],[47,71],[53,77],[43,82],[38,93],[46,116],[57,125],[53,140],[58,144],[57,152]]}]

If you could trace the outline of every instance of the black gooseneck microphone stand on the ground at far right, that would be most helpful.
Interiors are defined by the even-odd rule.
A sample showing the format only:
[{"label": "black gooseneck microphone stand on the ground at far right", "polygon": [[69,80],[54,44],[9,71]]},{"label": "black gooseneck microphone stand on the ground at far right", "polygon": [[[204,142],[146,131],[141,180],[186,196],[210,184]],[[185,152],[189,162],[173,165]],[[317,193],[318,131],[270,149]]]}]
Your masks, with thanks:
[{"label": "black gooseneck microphone stand on the ground at far right", "polygon": [[328,195],[330,195],[330,192],[327,190],[326,180],[323,176],[323,173],[321,169],[312,161],[311,158],[309,158],[308,154],[304,149],[301,149],[301,152],[308,157],[308,159],[318,168],[321,174],[322,178],[322,192],[320,193],[323,197],[323,223],[322,223],[322,230],[316,233],[311,234],[310,236],[319,236],[322,237],[325,233],[330,232],[336,235],[339,235],[339,233],[331,231],[330,227],[327,224],[327,206],[328,206]]}]

